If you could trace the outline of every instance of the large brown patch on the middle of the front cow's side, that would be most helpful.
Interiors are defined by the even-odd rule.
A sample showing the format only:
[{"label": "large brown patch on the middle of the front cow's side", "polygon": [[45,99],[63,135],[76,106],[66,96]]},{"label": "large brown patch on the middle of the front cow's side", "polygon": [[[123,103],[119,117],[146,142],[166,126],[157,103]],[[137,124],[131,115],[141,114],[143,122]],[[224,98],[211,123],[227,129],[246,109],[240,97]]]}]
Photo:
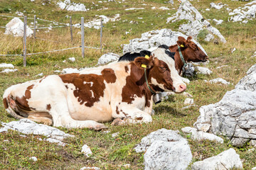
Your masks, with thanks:
[{"label": "large brown patch on the middle of the front cow's side", "polygon": [[85,104],[87,107],[92,107],[95,102],[100,101],[100,97],[104,96],[105,81],[109,84],[117,80],[113,69],[103,69],[101,73],[102,75],[60,74],[59,77],[64,83],[75,86],[73,94],[78,98],[80,105]]}]

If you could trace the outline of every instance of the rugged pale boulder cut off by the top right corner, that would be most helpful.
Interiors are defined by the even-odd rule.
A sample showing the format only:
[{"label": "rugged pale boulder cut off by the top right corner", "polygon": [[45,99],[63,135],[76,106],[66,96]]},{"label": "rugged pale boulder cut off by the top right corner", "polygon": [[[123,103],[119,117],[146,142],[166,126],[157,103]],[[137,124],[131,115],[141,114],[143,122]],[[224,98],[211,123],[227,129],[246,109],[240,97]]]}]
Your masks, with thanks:
[{"label": "rugged pale boulder cut off by the top right corner", "polygon": [[228,21],[247,23],[248,20],[255,18],[256,14],[256,1],[251,1],[245,4],[244,7],[235,8],[233,12],[230,12],[230,18]]}]

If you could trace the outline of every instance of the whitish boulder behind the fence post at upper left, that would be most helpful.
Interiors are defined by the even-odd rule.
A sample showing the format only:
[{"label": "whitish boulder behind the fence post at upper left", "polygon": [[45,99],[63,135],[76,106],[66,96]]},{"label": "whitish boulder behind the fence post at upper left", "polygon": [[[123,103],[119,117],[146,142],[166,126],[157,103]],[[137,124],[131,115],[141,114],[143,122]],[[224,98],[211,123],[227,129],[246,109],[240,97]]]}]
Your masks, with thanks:
[{"label": "whitish boulder behind the fence post at upper left", "polygon": [[[24,34],[24,23],[19,18],[13,18],[9,23],[6,24],[6,35],[14,35],[15,37],[23,37]],[[33,34],[33,30],[26,26],[26,36],[30,37]]]}]

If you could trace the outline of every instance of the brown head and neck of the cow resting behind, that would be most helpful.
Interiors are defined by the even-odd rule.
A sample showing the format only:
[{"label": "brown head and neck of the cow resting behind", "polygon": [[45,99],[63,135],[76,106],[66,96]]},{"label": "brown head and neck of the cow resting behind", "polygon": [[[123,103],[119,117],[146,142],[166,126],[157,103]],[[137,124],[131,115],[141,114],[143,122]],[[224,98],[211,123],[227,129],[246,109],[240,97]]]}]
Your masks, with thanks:
[{"label": "brown head and neck of the cow resting behind", "polygon": [[[171,52],[175,52],[175,68],[178,70],[178,74],[182,73],[182,68],[185,64],[182,61],[182,57],[185,62],[206,62],[208,60],[208,56],[203,52],[203,50],[201,50],[201,48],[191,40],[191,36],[189,36],[187,40],[179,36],[177,44],[169,47]],[[182,56],[179,54],[178,47],[181,50]]]}]

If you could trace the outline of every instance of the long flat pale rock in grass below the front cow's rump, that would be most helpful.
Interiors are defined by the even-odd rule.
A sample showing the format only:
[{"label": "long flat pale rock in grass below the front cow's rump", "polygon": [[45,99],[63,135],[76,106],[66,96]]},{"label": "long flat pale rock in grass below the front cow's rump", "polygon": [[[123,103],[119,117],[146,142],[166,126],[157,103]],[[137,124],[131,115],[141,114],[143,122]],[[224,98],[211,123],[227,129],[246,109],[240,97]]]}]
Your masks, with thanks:
[{"label": "long flat pale rock in grass below the front cow's rump", "polygon": [[63,140],[66,137],[74,137],[57,128],[50,127],[48,125],[38,124],[28,119],[21,119],[18,121],[12,121],[10,123],[1,123],[4,127],[0,129],[0,132],[7,132],[9,129],[17,130],[24,134],[44,135],[46,137],[53,138],[55,140]]}]

